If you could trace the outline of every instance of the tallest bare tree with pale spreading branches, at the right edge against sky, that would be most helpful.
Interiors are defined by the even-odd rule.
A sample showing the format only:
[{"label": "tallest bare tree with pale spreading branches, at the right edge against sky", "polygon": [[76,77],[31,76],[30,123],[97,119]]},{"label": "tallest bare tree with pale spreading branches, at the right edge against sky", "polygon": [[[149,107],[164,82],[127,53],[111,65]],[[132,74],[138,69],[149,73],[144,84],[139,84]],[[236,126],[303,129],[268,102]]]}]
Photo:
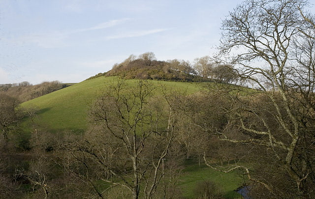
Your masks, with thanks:
[{"label": "tallest bare tree with pale spreading branches, at the right edge against sky", "polygon": [[[281,168],[284,179],[295,185],[290,192],[296,197],[314,197],[315,183],[315,27],[305,12],[308,6],[307,0],[246,0],[222,22],[220,47],[221,60],[235,64],[241,79],[261,91],[254,97],[231,94],[234,104],[225,107],[228,124],[218,135],[265,150],[275,160],[266,171]],[[231,137],[231,132],[243,137]],[[230,171],[236,168],[243,168],[271,196],[281,196],[277,192],[284,189],[273,186],[277,179],[272,175],[254,176],[244,166]]]}]

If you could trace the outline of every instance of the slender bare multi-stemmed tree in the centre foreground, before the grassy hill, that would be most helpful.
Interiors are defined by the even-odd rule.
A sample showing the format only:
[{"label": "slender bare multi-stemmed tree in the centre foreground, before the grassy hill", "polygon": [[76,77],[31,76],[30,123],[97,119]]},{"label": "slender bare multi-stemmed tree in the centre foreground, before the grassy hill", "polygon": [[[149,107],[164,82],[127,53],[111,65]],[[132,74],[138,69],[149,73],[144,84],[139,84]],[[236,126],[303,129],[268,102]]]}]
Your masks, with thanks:
[{"label": "slender bare multi-stemmed tree in the centre foreground, before the grassy hill", "polygon": [[[176,122],[172,107],[165,98],[153,97],[155,92],[157,87],[144,81],[136,86],[118,81],[95,102],[91,119],[97,128],[72,153],[84,165],[85,176],[98,171],[101,180],[125,187],[134,199],[140,192],[154,196]],[[99,190],[90,182],[101,198],[110,189]]]}]

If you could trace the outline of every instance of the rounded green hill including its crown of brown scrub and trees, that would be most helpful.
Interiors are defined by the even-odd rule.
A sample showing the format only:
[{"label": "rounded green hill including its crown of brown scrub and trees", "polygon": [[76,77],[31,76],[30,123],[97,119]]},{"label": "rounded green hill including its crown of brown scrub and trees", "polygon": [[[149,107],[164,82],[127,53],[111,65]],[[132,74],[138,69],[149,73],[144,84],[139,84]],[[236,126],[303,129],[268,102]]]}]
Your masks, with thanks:
[{"label": "rounded green hill including its crown of brown scrub and trees", "polygon": [[[202,66],[201,69],[198,69],[198,64]],[[208,69],[205,70],[205,67]],[[223,66],[223,69],[226,68],[229,69]],[[42,128],[53,131],[84,131],[88,126],[86,117],[89,104],[104,92],[107,85],[117,82],[118,78],[125,79],[130,85],[138,80],[147,80],[153,85],[168,86],[169,89],[196,92],[201,88],[200,82],[228,83],[217,75],[219,72],[221,76],[227,77],[229,71],[222,70],[222,65],[215,65],[209,57],[199,58],[192,66],[185,60],[156,60],[151,52],[138,57],[131,55],[123,62],[114,64],[108,72],[98,73],[81,83],[32,99],[23,103],[22,107],[37,107],[40,118],[38,123]]]}]

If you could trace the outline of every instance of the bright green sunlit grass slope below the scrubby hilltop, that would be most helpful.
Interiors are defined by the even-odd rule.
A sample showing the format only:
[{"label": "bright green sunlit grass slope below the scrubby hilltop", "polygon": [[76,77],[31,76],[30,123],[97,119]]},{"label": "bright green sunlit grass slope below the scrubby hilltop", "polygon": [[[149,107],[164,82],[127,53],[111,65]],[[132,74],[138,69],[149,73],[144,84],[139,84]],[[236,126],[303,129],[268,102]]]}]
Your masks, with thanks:
[{"label": "bright green sunlit grass slope below the scrubby hilltop", "polygon": [[[89,104],[106,89],[106,86],[117,82],[117,77],[99,77],[57,90],[50,94],[23,103],[22,107],[34,105],[39,108],[36,123],[52,131],[82,131],[88,127],[87,114]],[[126,80],[127,84],[136,85],[139,80]],[[194,92],[199,89],[197,83],[151,81],[174,89],[186,89]],[[26,120],[24,123],[30,122]]]}]

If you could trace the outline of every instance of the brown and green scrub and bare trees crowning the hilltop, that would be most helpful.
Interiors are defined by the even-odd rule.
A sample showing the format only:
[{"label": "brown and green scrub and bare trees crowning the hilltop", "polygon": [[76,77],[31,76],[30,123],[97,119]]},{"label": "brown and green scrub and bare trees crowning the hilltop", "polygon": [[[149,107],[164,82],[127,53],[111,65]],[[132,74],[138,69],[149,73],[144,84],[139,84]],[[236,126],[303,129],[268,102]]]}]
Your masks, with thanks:
[{"label": "brown and green scrub and bare trees crowning the hilltop", "polygon": [[[206,57],[206,58],[205,58]],[[224,82],[235,80],[233,67],[217,64],[210,57],[196,58],[191,64],[188,60],[172,59],[167,61],[156,60],[154,53],[147,52],[136,57],[130,55],[121,63],[105,73],[98,73],[90,77],[120,76],[125,79],[162,80],[176,82]],[[201,62],[200,60],[204,60]],[[88,80],[89,80],[88,79]]]}]

